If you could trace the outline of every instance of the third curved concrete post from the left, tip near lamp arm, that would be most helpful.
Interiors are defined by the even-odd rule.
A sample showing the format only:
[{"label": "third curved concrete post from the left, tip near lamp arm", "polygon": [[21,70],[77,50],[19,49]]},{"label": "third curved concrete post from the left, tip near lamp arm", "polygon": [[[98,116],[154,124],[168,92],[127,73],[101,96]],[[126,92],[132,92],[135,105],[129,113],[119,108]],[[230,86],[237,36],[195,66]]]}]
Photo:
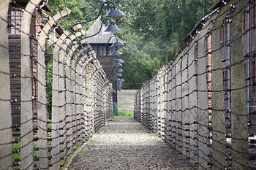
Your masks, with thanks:
[{"label": "third curved concrete post from the left, tip near lamp arm", "polygon": [[38,72],[38,95],[37,100],[39,101],[37,104],[37,116],[38,122],[38,136],[39,140],[38,147],[38,157],[39,157],[39,169],[47,169],[48,168],[48,141],[47,139],[47,109],[46,105],[46,80],[45,80],[45,41],[48,37],[48,33],[50,28],[56,23],[57,20],[63,18],[66,15],[70,14],[70,9],[64,9],[61,12],[58,12],[54,15],[48,22],[45,24],[44,28],[42,28],[42,32],[39,35],[38,39],[38,47],[37,47],[37,72]]}]

